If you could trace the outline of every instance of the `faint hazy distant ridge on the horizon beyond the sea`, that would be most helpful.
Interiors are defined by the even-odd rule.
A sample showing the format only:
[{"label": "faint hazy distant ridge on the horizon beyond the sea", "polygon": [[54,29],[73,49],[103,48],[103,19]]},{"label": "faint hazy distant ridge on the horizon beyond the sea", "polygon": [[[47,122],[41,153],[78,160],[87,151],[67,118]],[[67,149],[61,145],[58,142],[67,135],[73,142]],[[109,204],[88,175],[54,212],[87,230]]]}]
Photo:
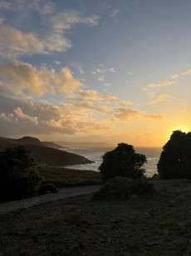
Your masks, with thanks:
[{"label": "faint hazy distant ridge on the horizon beyond the sea", "polygon": [[111,143],[104,143],[104,142],[98,142],[98,143],[89,143],[89,142],[56,142],[58,144],[60,144],[63,147],[95,147],[95,148],[100,148],[100,147],[105,147],[105,148],[113,148],[116,145],[115,144],[111,144]]}]

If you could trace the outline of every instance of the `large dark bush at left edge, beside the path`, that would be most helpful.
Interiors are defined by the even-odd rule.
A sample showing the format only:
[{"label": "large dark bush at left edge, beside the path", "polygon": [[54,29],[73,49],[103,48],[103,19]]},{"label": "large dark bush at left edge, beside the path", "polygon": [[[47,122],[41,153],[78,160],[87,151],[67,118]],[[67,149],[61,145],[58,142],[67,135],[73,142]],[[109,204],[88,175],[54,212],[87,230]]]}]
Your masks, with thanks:
[{"label": "large dark bush at left edge, beside the path", "polygon": [[0,152],[0,197],[19,198],[36,193],[41,178],[29,169],[34,164],[30,152],[23,146]]}]

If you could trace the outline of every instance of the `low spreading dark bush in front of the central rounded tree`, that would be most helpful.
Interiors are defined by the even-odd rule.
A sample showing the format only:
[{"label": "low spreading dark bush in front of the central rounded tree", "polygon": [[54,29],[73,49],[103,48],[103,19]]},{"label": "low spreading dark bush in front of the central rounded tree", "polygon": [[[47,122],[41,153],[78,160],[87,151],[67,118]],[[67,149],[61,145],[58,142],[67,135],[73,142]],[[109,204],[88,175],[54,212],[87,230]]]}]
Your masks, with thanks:
[{"label": "low spreading dark bush in front of the central rounded tree", "polygon": [[111,178],[100,190],[95,193],[94,199],[125,199],[130,194],[154,193],[152,183],[147,183],[142,179],[131,179],[123,177]]}]

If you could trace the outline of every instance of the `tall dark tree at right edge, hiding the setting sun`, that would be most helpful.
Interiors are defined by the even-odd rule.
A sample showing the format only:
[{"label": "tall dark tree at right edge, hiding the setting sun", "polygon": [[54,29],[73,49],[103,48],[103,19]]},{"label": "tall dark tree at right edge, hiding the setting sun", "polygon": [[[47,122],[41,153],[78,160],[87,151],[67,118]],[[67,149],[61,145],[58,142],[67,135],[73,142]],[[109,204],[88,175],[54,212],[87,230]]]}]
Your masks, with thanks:
[{"label": "tall dark tree at right edge, hiding the setting sun", "polygon": [[174,131],[158,163],[159,178],[191,178],[191,133]]}]

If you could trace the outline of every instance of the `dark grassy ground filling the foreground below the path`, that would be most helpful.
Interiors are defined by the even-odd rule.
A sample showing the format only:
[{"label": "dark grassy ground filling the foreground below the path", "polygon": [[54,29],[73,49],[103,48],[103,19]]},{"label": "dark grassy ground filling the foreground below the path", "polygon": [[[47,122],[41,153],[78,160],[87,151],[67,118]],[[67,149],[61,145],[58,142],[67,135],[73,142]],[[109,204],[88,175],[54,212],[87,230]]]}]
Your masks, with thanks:
[{"label": "dark grassy ground filling the foreground below the path", "polygon": [[191,255],[191,182],[159,182],[168,187],[164,195],[86,195],[0,215],[0,254]]}]

